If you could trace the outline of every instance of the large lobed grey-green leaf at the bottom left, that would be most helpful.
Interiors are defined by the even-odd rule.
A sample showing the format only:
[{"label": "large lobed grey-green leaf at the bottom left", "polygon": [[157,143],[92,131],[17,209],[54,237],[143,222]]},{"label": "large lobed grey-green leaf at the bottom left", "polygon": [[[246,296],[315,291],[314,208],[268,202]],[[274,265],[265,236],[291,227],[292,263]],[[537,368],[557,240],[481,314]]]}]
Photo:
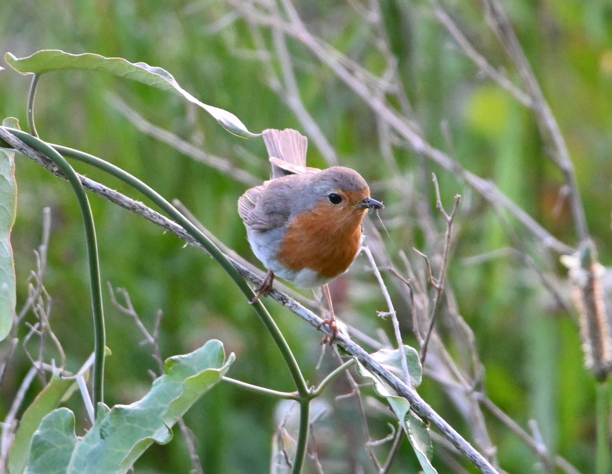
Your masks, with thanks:
[{"label": "large lobed grey-green leaf at the bottom left", "polygon": [[32,439],[28,473],[125,473],[153,442],[172,439],[170,427],[221,380],[234,361],[212,340],[191,354],[171,357],[151,391],[131,405],[99,404],[94,426],[75,435],[74,414],[61,408],[45,417]]}]

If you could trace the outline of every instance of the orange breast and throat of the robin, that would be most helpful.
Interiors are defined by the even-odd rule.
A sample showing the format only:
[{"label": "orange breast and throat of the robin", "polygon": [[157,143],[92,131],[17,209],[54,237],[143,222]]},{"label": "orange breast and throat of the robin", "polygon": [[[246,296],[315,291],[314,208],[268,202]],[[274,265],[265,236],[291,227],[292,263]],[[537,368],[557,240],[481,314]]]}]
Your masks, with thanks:
[{"label": "orange breast and throat of the robin", "polygon": [[345,272],[361,244],[365,210],[321,204],[289,224],[277,258],[289,270],[315,270],[323,278]]}]

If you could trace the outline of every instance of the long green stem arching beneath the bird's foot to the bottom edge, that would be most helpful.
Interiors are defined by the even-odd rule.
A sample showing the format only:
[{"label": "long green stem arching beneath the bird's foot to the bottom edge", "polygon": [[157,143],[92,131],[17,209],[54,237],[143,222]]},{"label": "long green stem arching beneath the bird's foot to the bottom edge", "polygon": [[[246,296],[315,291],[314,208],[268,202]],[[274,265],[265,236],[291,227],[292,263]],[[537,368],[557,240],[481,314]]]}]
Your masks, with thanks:
[{"label": "long green stem arching beneath the bird's foot to the bottom edge", "polygon": [[[67,157],[75,158],[76,160],[83,161],[84,163],[88,163],[89,165],[95,166],[96,168],[102,169],[102,171],[108,172],[114,177],[122,180],[123,182],[129,184],[136,190],[140,191],[147,198],[151,199],[157,206],[160,207],[170,218],[180,224],[189,234],[193,236],[195,240],[198,241],[206,250],[211,254],[211,256],[223,267],[226,273],[230,275],[236,286],[242,291],[242,293],[248,298],[248,300],[252,300],[255,294],[250,286],[248,286],[247,282],[242,278],[240,273],[237,272],[236,268],[231,264],[230,260],[225,256],[225,254],[219,250],[219,248],[214,245],[214,243],[209,240],[206,235],[204,235],[200,229],[196,228],[196,226],[189,221],[187,218],[182,215],[179,210],[177,210],[174,206],[170,204],[170,202],[166,201],[160,194],[155,192],[151,187],[147,186],[138,178],[132,176],[128,172],[125,172],[118,166],[114,166],[107,161],[100,160],[100,158],[94,157],[93,155],[89,155],[83,153],[79,150],[70,149],[67,147],[53,145],[54,149],[56,149],[62,155]],[[277,345],[278,350],[285,360],[285,363],[289,369],[289,373],[293,378],[294,383],[296,384],[297,393],[299,395],[300,402],[300,426],[299,426],[299,436],[297,440],[297,452],[296,459],[293,463],[293,473],[297,474],[302,469],[302,464],[304,462],[304,457],[306,453],[306,446],[308,441],[308,412],[309,412],[309,404],[310,404],[310,391],[306,385],[306,381],[304,380],[304,376],[302,375],[302,371],[300,371],[299,365],[297,365],[296,358],[291,352],[285,337],[278,329],[278,326],[268,313],[266,307],[261,303],[261,301],[257,301],[252,305],[253,309],[257,313],[261,322],[263,322],[267,331],[274,339],[274,343]]]}]

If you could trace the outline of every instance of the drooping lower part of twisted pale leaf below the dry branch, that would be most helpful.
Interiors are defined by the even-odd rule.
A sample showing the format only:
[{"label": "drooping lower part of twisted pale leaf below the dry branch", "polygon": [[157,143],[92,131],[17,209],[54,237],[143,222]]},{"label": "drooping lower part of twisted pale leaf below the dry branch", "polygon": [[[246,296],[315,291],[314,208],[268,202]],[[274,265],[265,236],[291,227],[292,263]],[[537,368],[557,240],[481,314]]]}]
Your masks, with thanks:
[{"label": "drooping lower part of twisted pale leaf below the dry branch", "polygon": [[389,405],[391,405],[395,415],[400,420],[401,427],[408,435],[408,440],[417,455],[417,459],[419,459],[423,472],[425,474],[438,474],[433,465],[431,465],[433,448],[431,447],[429,428],[425,422],[410,410],[410,404],[405,398],[389,396],[387,401],[389,401]]}]

